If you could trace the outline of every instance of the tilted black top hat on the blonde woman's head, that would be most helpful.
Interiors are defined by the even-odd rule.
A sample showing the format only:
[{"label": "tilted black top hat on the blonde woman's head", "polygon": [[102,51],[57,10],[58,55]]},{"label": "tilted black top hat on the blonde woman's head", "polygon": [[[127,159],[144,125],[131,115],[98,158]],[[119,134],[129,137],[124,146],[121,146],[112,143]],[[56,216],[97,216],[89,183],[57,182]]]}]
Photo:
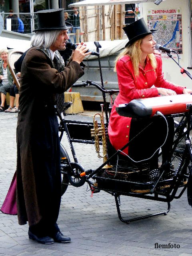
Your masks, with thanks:
[{"label": "tilted black top hat on the blonde woman's head", "polygon": [[157,30],[149,30],[143,18],[136,20],[135,22],[125,26],[123,30],[129,39],[129,42],[126,44],[126,46],[128,46],[129,44],[132,44],[133,42],[135,42],[136,40],[144,36],[147,36],[157,31]]}]

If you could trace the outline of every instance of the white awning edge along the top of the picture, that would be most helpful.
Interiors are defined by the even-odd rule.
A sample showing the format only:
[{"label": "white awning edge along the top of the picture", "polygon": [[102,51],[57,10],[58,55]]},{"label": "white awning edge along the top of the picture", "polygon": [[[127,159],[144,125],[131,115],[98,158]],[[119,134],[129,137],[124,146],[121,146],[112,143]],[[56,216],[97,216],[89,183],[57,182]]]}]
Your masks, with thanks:
[{"label": "white awning edge along the top of the picture", "polygon": [[74,4],[70,4],[69,7],[81,7],[81,6],[96,6],[96,5],[110,5],[110,4],[142,4],[147,2],[155,2],[156,0],[84,0]]}]

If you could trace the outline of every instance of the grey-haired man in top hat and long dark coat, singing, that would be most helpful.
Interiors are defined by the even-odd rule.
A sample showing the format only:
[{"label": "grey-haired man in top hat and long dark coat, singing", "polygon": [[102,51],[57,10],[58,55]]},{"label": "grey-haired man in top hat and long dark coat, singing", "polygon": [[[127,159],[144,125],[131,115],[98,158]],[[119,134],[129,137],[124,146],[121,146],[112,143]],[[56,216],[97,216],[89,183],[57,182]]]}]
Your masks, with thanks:
[{"label": "grey-haired man in top hat and long dark coat, singing", "polygon": [[[88,48],[73,51],[67,66],[64,50],[68,29],[63,9],[37,12],[38,28],[22,61],[17,126],[17,210],[29,238],[43,244],[70,242],[58,228],[61,200],[60,141],[54,105],[84,71]],[[57,106],[58,107],[58,106]],[[62,109],[60,110],[62,111]]]}]

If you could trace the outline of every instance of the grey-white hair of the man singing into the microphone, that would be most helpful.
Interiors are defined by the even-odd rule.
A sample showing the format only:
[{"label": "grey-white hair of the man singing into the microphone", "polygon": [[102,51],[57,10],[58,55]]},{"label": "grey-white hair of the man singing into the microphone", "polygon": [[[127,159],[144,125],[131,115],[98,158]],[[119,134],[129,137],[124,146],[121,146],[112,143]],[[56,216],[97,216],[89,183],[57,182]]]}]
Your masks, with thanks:
[{"label": "grey-white hair of the man singing into the microphone", "polygon": [[31,46],[50,48],[62,30],[38,31],[31,38]]}]

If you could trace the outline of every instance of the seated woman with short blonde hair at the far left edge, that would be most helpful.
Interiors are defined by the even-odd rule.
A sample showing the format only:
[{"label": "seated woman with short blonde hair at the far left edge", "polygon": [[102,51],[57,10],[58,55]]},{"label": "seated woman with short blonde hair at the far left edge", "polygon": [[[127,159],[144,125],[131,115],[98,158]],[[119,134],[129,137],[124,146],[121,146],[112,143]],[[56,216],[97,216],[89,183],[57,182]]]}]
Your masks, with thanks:
[{"label": "seated woman with short blonde hair at the far left edge", "polygon": [[0,112],[5,110],[5,100],[6,94],[10,91],[10,87],[13,82],[12,75],[8,68],[7,59],[8,59],[8,50],[2,49],[0,50],[0,95],[1,95],[1,105],[0,105]]}]

